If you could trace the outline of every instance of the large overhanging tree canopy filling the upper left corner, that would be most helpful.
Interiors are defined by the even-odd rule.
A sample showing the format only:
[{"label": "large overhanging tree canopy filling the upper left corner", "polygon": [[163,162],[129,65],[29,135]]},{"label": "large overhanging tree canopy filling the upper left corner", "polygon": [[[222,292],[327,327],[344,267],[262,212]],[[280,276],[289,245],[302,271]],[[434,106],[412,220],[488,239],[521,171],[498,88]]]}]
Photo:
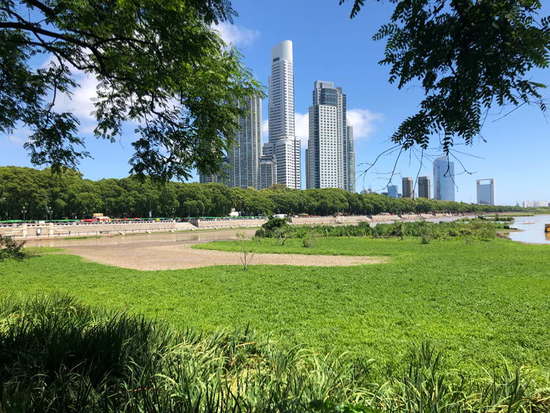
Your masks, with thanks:
[{"label": "large overhanging tree canopy filling the upper left corner", "polygon": [[131,173],[215,170],[259,91],[212,29],[234,14],[228,0],[0,0],[0,133],[25,126],[34,164],[75,167],[85,139],[56,99],[80,71],[98,80],[95,136],[134,128]]}]

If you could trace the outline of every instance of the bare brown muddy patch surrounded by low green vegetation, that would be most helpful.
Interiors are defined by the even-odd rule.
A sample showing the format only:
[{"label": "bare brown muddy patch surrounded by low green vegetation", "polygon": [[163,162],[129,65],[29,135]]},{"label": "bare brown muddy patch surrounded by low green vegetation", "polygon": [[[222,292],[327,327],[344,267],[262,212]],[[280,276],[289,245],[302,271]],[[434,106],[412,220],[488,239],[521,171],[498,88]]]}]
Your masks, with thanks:
[{"label": "bare brown muddy patch surrounded by low green vegetation", "polygon": [[[101,264],[135,270],[174,270],[209,267],[213,265],[242,265],[238,252],[198,250],[194,244],[221,239],[236,239],[235,230],[212,231],[201,234],[151,234],[131,237],[115,237],[88,240],[54,240],[44,243],[29,243],[61,247],[64,252],[79,255]],[[243,232],[243,231],[240,231]],[[254,231],[245,231],[251,236]],[[335,255],[302,254],[254,254],[250,265],[297,265],[297,266],[350,266],[387,262],[385,257],[351,257]]]}]

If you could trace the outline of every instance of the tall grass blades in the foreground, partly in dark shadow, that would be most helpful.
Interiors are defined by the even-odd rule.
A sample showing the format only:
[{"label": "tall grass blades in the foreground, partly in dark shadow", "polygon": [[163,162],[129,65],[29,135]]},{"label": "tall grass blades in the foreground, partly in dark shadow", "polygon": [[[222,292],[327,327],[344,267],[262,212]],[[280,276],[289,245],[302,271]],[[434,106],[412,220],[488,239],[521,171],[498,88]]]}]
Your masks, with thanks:
[{"label": "tall grass blades in the foreground, partly in dark shadow", "polygon": [[0,303],[0,411],[543,412],[521,370],[469,380],[429,344],[377,384],[368,360],[250,331],[176,332],[66,296]]}]

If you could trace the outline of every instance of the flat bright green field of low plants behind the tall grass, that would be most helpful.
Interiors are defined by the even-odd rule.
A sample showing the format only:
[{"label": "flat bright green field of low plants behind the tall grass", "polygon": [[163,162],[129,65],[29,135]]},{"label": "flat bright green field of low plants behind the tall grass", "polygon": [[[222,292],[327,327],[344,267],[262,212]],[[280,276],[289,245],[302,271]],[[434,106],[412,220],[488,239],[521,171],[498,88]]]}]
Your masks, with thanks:
[{"label": "flat bright green field of low plants behind the tall grass", "polygon": [[[550,374],[550,248],[508,240],[320,238],[245,242],[256,252],[389,256],[356,267],[239,266],[140,272],[44,254],[0,262],[0,293],[62,291],[178,328],[249,325],[284,345],[397,362],[431,341],[454,367]],[[240,242],[200,248],[238,251]],[[253,264],[253,261],[252,261]]]}]

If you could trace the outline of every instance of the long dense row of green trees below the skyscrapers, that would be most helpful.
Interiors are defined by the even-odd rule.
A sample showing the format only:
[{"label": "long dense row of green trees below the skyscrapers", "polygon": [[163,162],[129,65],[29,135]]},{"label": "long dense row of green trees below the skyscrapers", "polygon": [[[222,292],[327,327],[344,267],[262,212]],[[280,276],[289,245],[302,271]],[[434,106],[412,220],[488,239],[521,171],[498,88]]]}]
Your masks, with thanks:
[{"label": "long dense row of green trees below the skyscrapers", "polygon": [[243,215],[311,214],[372,215],[429,212],[504,212],[522,210],[429,199],[393,199],[340,189],[228,188],[221,184],[157,184],[129,177],[83,179],[68,170],[0,167],[0,219],[87,218],[94,212],[111,217],[226,216],[235,208]]}]

